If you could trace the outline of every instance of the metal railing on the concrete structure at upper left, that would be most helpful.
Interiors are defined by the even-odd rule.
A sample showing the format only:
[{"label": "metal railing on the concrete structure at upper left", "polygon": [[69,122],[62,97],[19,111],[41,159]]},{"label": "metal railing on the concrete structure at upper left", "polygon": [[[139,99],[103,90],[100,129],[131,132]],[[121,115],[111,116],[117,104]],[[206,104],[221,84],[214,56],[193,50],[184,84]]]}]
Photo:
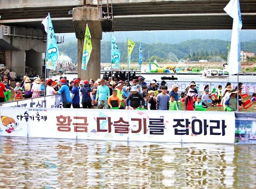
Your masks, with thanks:
[{"label": "metal railing on the concrete structure at upper left", "polygon": [[[27,39],[37,39],[46,42],[47,34],[39,29],[25,27],[3,26],[4,36],[14,36]],[[64,43],[64,36],[55,36],[57,43]]]}]

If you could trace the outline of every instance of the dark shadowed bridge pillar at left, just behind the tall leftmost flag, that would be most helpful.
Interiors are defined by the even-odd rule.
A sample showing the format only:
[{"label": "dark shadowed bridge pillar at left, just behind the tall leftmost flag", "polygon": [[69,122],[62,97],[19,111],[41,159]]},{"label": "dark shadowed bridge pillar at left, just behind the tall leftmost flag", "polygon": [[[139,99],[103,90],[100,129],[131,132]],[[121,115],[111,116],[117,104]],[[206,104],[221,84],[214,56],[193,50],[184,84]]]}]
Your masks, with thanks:
[{"label": "dark shadowed bridge pillar at left, just behind the tall leftmost flag", "polygon": [[42,53],[26,52],[26,65],[32,67],[37,74],[42,77]]}]

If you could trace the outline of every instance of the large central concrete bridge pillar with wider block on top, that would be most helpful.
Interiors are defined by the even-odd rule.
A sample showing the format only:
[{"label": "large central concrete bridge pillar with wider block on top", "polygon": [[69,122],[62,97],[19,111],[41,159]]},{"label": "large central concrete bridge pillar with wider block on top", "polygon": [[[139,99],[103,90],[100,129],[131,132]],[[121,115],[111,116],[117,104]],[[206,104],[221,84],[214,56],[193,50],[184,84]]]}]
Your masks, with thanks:
[{"label": "large central concrete bridge pillar with wider block on top", "polygon": [[[100,78],[100,40],[102,39],[102,26],[98,20],[97,7],[76,7],[73,9],[73,22],[75,27],[75,36],[77,38],[77,66],[78,77],[81,79]],[[82,51],[84,46],[84,33],[86,24],[90,29],[91,42],[93,50],[87,69],[81,69]]]}]

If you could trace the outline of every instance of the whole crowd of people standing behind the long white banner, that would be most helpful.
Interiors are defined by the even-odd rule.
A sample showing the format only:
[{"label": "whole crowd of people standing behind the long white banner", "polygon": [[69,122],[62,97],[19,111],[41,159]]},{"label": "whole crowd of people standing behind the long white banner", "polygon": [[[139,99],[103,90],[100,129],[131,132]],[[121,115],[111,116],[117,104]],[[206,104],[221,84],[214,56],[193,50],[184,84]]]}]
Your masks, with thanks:
[{"label": "whole crowd of people standing behind the long white banner", "polygon": [[[121,73],[122,76],[123,73]],[[107,75],[105,75],[107,76]],[[242,109],[243,99],[241,97],[242,83],[238,88],[231,88],[231,83],[226,86],[218,86],[217,89],[210,90],[209,85],[205,85],[203,93],[198,94],[198,87],[195,81],[191,81],[189,86],[178,94],[179,86],[173,85],[168,90],[165,81],[157,83],[153,79],[149,84],[143,76],[133,79],[132,83],[128,80],[121,80],[118,76],[104,77],[97,81],[81,80],[74,78],[68,81],[67,77],[60,77],[60,80],[35,79],[31,82],[29,77],[24,76],[21,83],[17,82],[16,87],[10,86],[10,78],[4,73],[0,84],[0,100],[3,102],[3,94],[10,89],[14,90],[14,100],[24,98],[35,98],[39,96],[61,94],[64,108],[93,108],[98,109],[148,109],[148,110],[181,110],[184,103],[184,110],[195,110],[195,108],[208,108],[223,106],[229,111],[237,108],[237,93],[239,93],[239,109]],[[117,79],[119,77],[119,79]],[[125,77],[125,75],[124,75]],[[2,92],[1,92],[2,91]],[[252,95],[251,101],[256,100],[256,94]]]}]

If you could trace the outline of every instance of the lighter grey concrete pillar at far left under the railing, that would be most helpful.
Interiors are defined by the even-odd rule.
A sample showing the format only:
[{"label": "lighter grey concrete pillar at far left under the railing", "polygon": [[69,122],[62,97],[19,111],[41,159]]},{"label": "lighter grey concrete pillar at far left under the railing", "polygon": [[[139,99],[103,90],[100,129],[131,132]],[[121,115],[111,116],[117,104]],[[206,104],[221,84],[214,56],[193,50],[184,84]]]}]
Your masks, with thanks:
[{"label": "lighter grey concrete pillar at far left under the railing", "polygon": [[25,50],[5,51],[5,61],[6,65],[12,68],[12,72],[16,72],[17,76],[25,73]]}]

